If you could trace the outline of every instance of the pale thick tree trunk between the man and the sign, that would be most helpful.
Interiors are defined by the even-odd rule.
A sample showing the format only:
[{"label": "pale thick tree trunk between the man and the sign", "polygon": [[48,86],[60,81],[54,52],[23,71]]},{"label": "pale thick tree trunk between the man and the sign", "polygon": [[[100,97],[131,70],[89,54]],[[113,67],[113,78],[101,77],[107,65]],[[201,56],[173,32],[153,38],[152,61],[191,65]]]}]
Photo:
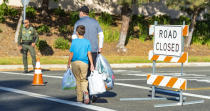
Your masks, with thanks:
[{"label": "pale thick tree trunk between the man and the sign", "polygon": [[120,29],[120,37],[117,44],[117,51],[126,52],[127,49],[125,48],[125,42],[129,28],[131,9],[129,8],[128,4],[124,4],[121,11],[122,11],[122,26]]}]

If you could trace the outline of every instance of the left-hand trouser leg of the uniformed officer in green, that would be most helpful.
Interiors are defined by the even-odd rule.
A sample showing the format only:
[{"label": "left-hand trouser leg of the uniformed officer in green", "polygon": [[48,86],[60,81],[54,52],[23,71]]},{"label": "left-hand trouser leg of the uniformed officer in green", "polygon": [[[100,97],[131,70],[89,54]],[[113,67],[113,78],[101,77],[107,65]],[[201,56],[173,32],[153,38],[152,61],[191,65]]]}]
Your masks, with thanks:
[{"label": "left-hand trouser leg of the uniformed officer in green", "polygon": [[23,65],[24,65],[24,72],[28,72],[28,60],[27,60],[27,53],[28,53],[28,48],[26,45],[22,45],[22,54],[23,54]]}]

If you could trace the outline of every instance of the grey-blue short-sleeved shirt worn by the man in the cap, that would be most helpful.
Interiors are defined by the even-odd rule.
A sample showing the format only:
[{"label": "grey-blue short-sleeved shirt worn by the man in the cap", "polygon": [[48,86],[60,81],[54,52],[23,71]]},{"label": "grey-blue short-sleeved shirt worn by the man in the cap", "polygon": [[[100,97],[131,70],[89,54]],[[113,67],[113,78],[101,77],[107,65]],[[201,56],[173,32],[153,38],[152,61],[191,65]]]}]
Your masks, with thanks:
[{"label": "grey-blue short-sleeved shirt worn by the man in the cap", "polygon": [[91,52],[98,52],[98,33],[103,32],[99,23],[89,16],[80,18],[74,25],[74,33],[76,34],[76,28],[78,25],[85,26],[84,38],[88,39],[91,44]]}]

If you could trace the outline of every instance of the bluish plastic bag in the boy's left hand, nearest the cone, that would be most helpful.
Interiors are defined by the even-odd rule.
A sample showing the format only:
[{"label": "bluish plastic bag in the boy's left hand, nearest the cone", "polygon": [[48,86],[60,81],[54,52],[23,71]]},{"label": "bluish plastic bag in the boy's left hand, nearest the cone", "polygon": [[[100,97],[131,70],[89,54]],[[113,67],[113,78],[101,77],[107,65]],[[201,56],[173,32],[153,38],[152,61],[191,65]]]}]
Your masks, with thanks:
[{"label": "bluish plastic bag in the boy's left hand, nearest the cone", "polygon": [[76,88],[76,79],[74,77],[74,74],[70,69],[67,69],[67,71],[63,75],[62,80],[62,89],[75,89]]}]

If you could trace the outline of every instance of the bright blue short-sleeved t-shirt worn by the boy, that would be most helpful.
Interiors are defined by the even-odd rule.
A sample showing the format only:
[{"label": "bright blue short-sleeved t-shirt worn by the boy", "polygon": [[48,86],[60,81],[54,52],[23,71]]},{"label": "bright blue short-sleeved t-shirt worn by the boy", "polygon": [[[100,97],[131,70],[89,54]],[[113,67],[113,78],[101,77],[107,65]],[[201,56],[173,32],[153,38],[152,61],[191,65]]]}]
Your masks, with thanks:
[{"label": "bright blue short-sleeved t-shirt worn by the boy", "polygon": [[88,64],[88,52],[91,52],[90,41],[85,38],[74,39],[69,51],[73,52],[72,62],[82,61]]}]

